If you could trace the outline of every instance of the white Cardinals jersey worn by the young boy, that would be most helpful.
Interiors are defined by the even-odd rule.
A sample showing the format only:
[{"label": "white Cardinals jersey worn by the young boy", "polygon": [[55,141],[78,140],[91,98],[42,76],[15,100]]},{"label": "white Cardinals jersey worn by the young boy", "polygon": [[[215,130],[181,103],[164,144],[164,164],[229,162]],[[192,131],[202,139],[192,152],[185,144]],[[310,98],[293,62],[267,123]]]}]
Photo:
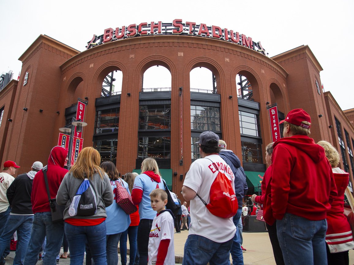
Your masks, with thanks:
[{"label": "white Cardinals jersey worn by the young boy", "polygon": [[148,264],[156,264],[157,254],[159,251],[160,241],[164,239],[170,240],[169,248],[165,258],[165,265],[175,264],[175,242],[173,240],[175,223],[171,213],[168,211],[157,215],[151,226],[148,245]]}]

